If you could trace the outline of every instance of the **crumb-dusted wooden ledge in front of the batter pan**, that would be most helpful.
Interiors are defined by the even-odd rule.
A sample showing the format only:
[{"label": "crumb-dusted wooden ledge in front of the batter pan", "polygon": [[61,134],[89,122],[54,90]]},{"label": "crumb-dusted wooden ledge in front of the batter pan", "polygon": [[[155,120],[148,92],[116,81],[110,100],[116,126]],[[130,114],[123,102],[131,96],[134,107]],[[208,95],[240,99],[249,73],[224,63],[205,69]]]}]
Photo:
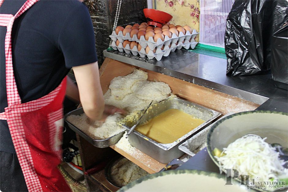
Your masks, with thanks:
[{"label": "crumb-dusted wooden ledge in front of the batter pan", "polygon": [[115,145],[112,145],[110,147],[150,174],[159,172],[166,165],[166,164],[159,163],[157,160],[146,155],[145,153],[143,153],[142,151],[138,149],[135,149],[137,153],[133,152],[131,154],[130,152],[124,151],[123,149],[120,149],[116,147]]}]

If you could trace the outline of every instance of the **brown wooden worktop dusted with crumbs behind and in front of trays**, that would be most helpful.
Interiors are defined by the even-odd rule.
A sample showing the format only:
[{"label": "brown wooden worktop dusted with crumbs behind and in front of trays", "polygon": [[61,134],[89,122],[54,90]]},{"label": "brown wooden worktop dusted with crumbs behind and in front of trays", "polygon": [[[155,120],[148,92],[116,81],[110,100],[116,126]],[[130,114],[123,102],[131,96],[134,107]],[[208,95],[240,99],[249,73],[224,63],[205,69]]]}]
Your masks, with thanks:
[{"label": "brown wooden worktop dusted with crumbs behind and in front of trays", "polygon": [[[106,58],[100,68],[100,82],[103,93],[108,90],[108,86],[114,77],[124,76],[132,73],[135,66],[127,63],[119,62],[110,58]],[[183,81],[174,77],[170,77],[161,73],[150,70],[144,70],[148,73],[149,81],[163,81],[167,83],[172,93],[176,96],[188,100],[192,103],[202,105],[204,107],[213,109],[222,114],[229,112],[241,112],[255,110],[259,105],[247,100],[240,99],[222,92],[218,92],[200,85]],[[112,149],[137,164],[149,173],[156,173],[165,167],[165,164],[159,163],[145,153],[139,151],[137,155],[129,151],[124,151],[117,148],[115,145],[111,146]]]}]

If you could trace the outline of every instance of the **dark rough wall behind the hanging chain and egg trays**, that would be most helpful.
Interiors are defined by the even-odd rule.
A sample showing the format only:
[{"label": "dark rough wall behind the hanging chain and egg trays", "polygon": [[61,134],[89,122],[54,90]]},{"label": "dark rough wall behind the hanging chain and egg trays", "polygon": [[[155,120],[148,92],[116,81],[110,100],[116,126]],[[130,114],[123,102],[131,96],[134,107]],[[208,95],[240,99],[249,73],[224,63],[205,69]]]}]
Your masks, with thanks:
[{"label": "dark rough wall behind the hanging chain and egg trays", "polygon": [[[104,61],[103,50],[109,47],[117,8],[116,0],[85,0],[93,22],[98,63]],[[143,9],[147,7],[146,0],[122,0],[120,15],[117,25],[146,22]]]}]

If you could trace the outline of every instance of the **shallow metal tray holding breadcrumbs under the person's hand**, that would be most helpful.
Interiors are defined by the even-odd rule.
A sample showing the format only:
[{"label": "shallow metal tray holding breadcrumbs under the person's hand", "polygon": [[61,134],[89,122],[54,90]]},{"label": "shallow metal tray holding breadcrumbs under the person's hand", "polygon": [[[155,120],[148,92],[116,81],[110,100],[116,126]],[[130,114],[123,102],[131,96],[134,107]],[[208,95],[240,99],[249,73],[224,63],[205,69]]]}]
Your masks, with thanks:
[{"label": "shallow metal tray holding breadcrumbs under the person's hand", "polygon": [[68,126],[74,130],[77,134],[79,134],[81,137],[83,137],[86,141],[88,141],[89,143],[91,143],[92,145],[94,145],[95,147],[98,147],[98,148],[106,148],[106,147],[109,147],[111,145],[114,145],[116,144],[120,139],[121,137],[123,136],[124,132],[121,132],[119,134],[116,134],[116,135],[113,135],[107,139],[102,139],[102,140],[97,140],[97,139],[93,139],[91,137],[89,137],[87,134],[85,134],[81,129],[79,129],[78,127],[74,126],[72,123],[70,123],[68,120],[67,120],[67,117],[69,115],[81,115],[83,114],[84,111],[83,111],[83,108],[78,108],[78,109],[75,109],[73,111],[70,111],[69,113],[67,113],[65,116],[64,116],[64,120],[68,123]]}]

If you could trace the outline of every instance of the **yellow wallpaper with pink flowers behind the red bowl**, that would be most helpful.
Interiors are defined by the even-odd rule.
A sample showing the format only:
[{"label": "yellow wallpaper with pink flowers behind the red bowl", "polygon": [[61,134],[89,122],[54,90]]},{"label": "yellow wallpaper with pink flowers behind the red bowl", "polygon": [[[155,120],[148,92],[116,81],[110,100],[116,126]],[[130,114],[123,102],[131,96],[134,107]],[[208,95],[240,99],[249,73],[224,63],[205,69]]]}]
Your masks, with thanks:
[{"label": "yellow wallpaper with pink flowers behind the red bowl", "polygon": [[189,25],[199,32],[199,0],[155,0],[155,2],[156,9],[173,16],[170,23],[182,26]]}]

